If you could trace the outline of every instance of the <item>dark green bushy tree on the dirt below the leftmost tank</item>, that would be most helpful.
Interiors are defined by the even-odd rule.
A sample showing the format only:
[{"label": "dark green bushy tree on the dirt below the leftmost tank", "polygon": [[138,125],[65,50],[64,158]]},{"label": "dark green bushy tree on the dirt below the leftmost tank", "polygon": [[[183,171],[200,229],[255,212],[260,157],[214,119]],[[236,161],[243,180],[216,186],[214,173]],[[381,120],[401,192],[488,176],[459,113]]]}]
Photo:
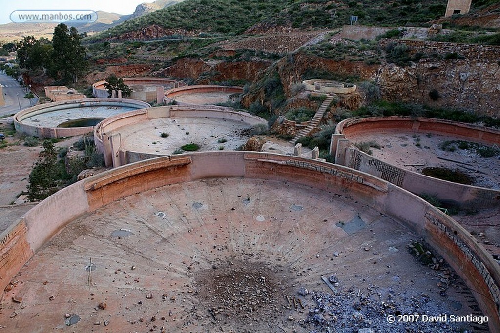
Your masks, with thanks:
[{"label": "dark green bushy tree on the dirt below the leftmost tank", "polygon": [[50,140],[43,142],[43,150],[29,174],[27,197],[29,200],[43,200],[62,187],[64,166],[57,161],[57,151]]}]

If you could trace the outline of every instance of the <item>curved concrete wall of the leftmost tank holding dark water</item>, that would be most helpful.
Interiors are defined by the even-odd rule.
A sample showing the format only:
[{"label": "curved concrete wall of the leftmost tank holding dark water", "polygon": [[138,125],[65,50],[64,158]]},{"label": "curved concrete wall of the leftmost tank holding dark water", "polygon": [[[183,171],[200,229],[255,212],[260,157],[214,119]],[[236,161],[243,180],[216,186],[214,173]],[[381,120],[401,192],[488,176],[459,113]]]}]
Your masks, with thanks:
[{"label": "curved concrete wall of the leftmost tank holding dark water", "polygon": [[[56,110],[64,110],[78,106],[122,106],[145,108],[149,104],[134,99],[110,99],[110,98],[82,98],[71,101],[61,101],[36,105],[25,110],[19,111],[14,115],[14,127],[18,132],[39,138],[60,138],[65,136],[81,135],[91,132],[93,126],[89,127],[42,127],[23,124],[22,121],[34,115],[49,113]],[[84,116],[82,115],[82,118]]]}]

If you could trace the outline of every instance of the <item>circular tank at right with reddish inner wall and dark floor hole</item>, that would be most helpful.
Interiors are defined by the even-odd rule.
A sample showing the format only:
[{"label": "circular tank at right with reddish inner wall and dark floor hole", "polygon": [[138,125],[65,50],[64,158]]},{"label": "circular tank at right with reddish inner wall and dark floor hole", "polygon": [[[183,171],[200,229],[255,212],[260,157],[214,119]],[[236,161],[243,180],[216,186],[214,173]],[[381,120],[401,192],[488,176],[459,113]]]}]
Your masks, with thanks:
[{"label": "circular tank at right with reddish inner wall and dark floor hole", "polygon": [[[417,194],[435,195],[464,208],[491,208],[500,204],[500,149],[496,156],[480,157],[462,149],[443,149],[453,142],[471,142],[484,147],[500,145],[500,131],[483,126],[434,118],[368,117],[338,123],[337,136],[352,144],[337,163],[368,172]],[[353,144],[371,142],[368,155]],[[347,146],[346,146],[347,147]],[[337,153],[338,154],[338,153]],[[423,175],[427,167],[460,170],[474,179],[462,185]]]}]

